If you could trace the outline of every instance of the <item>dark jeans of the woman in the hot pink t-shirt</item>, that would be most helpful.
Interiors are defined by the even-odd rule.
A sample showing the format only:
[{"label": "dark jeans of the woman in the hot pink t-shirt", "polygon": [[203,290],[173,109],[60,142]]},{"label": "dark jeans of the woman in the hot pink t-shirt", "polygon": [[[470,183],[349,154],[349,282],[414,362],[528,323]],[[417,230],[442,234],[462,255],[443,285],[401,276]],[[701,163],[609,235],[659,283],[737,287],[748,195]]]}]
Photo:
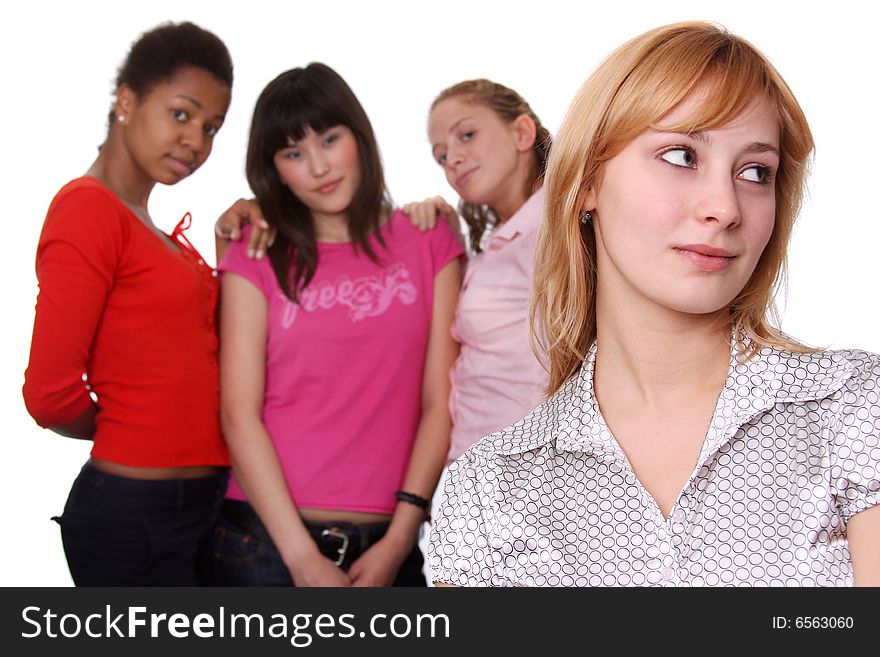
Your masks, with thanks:
[{"label": "dark jeans of the woman in the hot pink t-shirt", "polygon": [[[306,523],[321,553],[345,571],[382,538],[388,523]],[[294,586],[281,554],[253,507],[225,500],[214,528],[214,578],[218,586]],[[392,586],[426,586],[418,545],[407,555]]]}]

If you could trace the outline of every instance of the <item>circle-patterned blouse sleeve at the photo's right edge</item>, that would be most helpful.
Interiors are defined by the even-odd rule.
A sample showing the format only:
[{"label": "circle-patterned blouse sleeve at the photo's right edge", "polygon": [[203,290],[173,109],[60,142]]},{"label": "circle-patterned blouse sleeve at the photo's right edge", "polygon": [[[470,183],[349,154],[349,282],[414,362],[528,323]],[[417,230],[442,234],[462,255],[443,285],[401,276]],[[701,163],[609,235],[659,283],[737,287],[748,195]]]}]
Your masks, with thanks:
[{"label": "circle-patterned blouse sleeve at the photo's right edge", "polygon": [[880,356],[861,356],[831,446],[831,486],[844,520],[880,504]]}]

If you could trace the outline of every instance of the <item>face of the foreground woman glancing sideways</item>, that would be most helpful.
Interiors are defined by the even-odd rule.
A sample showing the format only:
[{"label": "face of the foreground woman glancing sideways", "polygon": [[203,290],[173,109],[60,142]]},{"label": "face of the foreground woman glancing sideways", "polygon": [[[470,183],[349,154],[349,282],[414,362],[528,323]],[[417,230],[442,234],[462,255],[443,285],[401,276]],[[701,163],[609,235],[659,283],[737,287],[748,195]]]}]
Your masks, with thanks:
[{"label": "face of the foreground woman glancing sideways", "polygon": [[605,166],[594,210],[600,300],[707,314],[745,287],[776,212],[779,127],[766,98],[699,133],[681,124],[698,88]]}]

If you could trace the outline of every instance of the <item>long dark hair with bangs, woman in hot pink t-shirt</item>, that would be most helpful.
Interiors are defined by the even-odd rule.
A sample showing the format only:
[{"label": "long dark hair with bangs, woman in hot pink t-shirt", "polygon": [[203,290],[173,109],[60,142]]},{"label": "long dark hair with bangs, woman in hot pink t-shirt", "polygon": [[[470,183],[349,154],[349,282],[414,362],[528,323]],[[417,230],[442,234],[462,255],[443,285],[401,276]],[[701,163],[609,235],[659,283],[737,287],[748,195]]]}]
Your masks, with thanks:
[{"label": "long dark hair with bangs, woman in hot pink t-shirt", "polygon": [[373,127],[345,80],[329,66],[313,62],[272,80],[254,109],[245,170],[266,221],[278,230],[269,261],[282,291],[294,302],[315,275],[318,245],[311,210],[282,184],[274,157],[309,128],[322,132],[339,125],[354,135],[360,163],[360,185],[348,209],[352,246],[378,262],[369,239],[375,235],[384,247],[379,229],[391,199]]}]

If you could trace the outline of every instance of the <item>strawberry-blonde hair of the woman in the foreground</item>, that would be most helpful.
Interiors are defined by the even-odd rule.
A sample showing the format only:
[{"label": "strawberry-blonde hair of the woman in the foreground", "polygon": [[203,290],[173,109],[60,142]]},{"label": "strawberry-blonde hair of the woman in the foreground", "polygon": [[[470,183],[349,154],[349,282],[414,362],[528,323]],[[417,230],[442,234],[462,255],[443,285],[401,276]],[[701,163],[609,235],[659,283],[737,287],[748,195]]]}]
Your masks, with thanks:
[{"label": "strawberry-blonde hair of the woman in the foreground", "polygon": [[[596,339],[596,237],[580,221],[604,164],[658,122],[698,85],[706,100],[682,125],[697,132],[722,126],[763,94],[776,111],[780,164],[773,233],[755,271],[730,303],[730,325],[752,355],[763,346],[807,347],[778,328],[774,295],[784,284],[786,252],[804,195],[813,137],[788,85],[754,46],[704,22],[651,30],[615,50],[584,82],[553,145],[545,180],[545,219],[535,254],[530,320],[548,354],[548,393],[556,392]],[[638,190],[633,190],[638,193]]]}]

